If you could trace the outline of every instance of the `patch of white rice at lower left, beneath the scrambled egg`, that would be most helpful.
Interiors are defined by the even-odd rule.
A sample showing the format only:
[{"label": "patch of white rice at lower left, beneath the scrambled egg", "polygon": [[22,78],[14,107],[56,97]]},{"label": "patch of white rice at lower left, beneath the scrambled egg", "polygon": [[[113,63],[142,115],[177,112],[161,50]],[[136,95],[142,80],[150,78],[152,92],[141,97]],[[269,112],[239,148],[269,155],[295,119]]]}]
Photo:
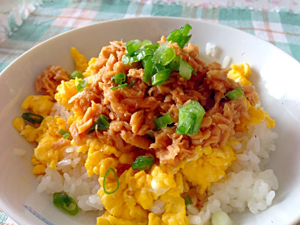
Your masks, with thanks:
[{"label": "patch of white rice at lower left, beneath the scrambled egg", "polygon": [[[63,158],[57,163],[57,169],[47,168],[45,176],[38,176],[37,192],[53,194],[66,192],[83,211],[103,211],[103,204],[97,192],[100,188],[99,176],[88,177],[84,167],[87,154],[78,153],[77,146],[71,146],[63,153]],[[61,171],[61,175],[58,171]]]}]

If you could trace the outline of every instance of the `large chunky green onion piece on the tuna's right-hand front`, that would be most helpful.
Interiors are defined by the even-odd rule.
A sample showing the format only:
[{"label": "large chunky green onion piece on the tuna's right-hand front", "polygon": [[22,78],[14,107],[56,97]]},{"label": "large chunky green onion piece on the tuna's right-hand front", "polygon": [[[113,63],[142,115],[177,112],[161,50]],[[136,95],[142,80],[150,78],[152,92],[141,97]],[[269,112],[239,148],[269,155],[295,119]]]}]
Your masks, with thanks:
[{"label": "large chunky green onion piece on the tuna's right-hand front", "polygon": [[191,100],[186,105],[180,106],[176,133],[197,134],[204,114],[204,108],[197,101]]}]

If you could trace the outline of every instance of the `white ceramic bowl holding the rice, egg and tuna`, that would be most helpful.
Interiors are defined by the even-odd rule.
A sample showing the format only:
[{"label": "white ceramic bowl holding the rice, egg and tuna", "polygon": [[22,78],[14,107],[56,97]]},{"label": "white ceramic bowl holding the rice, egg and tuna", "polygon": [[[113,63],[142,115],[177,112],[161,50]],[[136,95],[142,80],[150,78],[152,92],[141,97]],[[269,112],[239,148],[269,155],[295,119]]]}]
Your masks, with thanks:
[{"label": "white ceramic bowl holding the rice, egg and tuna", "polygon": [[[109,41],[149,39],[157,41],[188,22],[192,26],[191,42],[199,45],[206,61],[207,42],[218,47],[222,63],[228,55],[232,63],[247,62],[251,80],[264,109],[276,119],[277,150],[271,154],[269,168],[274,170],[279,189],[271,207],[258,215],[250,212],[232,214],[237,224],[283,225],[300,220],[300,63],[270,43],[245,32],[184,18],[145,17],[93,24],[53,37],[32,48],[11,63],[0,76],[0,208],[19,225],[96,224],[97,214],[68,216],[52,203],[52,197],[38,194],[31,165],[33,145],[13,128],[12,120],[22,114],[21,103],[35,92],[36,76],[47,65],[60,65],[72,72],[75,64],[70,47],[76,47],[86,58],[98,57]],[[244,53],[244,54],[243,54]],[[13,148],[27,153],[20,157]],[[247,210],[246,210],[247,211]]]}]

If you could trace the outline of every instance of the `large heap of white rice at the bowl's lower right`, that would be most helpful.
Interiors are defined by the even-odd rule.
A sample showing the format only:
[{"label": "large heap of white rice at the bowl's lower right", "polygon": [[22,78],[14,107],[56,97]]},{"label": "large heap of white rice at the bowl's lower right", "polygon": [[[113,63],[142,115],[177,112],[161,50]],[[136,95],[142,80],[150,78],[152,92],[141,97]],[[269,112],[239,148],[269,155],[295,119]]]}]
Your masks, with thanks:
[{"label": "large heap of white rice at the bowl's lower right", "polygon": [[232,138],[239,142],[232,146],[237,161],[232,162],[224,178],[212,183],[207,192],[208,201],[201,212],[196,213],[195,207],[187,207],[189,224],[205,225],[220,211],[244,212],[248,208],[257,214],[272,204],[278,180],[272,170],[263,167],[269,161],[269,153],[275,151],[274,140],[278,135],[267,129],[265,122],[248,129],[244,136],[238,132]]}]

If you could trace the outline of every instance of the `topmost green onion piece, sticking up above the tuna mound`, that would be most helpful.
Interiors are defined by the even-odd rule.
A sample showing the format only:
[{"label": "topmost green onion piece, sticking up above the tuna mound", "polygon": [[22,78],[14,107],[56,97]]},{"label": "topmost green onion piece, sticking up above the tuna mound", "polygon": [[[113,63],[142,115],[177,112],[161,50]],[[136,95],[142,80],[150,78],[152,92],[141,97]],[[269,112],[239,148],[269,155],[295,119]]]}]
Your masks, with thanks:
[{"label": "topmost green onion piece, sticking up above the tuna mound", "polygon": [[174,30],[170,33],[170,35],[166,38],[169,42],[177,42],[180,48],[183,48],[187,42],[191,39],[192,35],[188,35],[192,27],[186,23],[180,30]]}]

